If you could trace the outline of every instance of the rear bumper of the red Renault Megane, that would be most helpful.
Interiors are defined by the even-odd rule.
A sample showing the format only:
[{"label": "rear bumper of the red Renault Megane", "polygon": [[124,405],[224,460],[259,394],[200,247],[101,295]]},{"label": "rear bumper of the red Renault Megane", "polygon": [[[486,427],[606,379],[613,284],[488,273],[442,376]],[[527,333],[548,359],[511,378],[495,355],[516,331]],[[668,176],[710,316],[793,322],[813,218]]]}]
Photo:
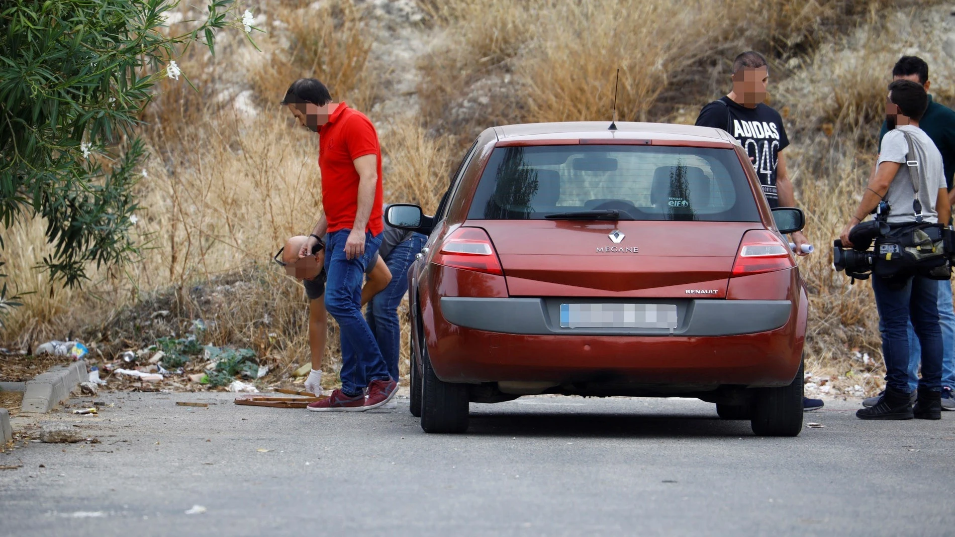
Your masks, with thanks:
[{"label": "rear bumper of the red Renault Megane", "polygon": [[[792,382],[801,361],[804,323],[799,318],[805,314],[804,304],[799,307],[789,300],[771,300],[766,307],[764,301],[738,302],[744,305],[720,310],[725,318],[722,323],[709,320],[712,315],[708,308],[712,306],[696,303],[688,305],[695,308],[691,317],[699,316],[706,322],[681,324],[682,332],[674,331],[673,335],[659,329],[654,335],[636,335],[561,329],[559,322],[554,328],[542,319],[547,314],[541,299],[461,301],[442,297],[435,308],[434,331],[426,329],[430,333],[426,340],[435,374],[444,382],[609,382],[699,389]],[[477,312],[497,312],[499,319],[478,315],[469,318],[462,315],[463,304],[476,306]],[[513,312],[505,312],[505,304]],[[783,315],[780,310],[784,304]],[[750,309],[754,306],[765,308],[756,319]],[[705,311],[708,313],[701,314]],[[769,328],[735,335],[705,334],[707,330],[713,332],[711,326],[717,324],[726,327],[742,322]],[[533,326],[537,333],[516,333],[529,332]]]}]

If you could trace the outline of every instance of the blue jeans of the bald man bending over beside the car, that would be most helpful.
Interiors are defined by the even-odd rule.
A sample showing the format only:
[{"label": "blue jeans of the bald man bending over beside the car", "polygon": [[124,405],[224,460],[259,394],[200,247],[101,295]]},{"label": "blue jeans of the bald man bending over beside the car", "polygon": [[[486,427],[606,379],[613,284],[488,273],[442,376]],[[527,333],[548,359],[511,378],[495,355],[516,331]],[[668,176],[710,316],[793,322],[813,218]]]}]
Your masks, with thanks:
[{"label": "blue jeans of the bald man bending over beside the car", "polygon": [[365,319],[371,327],[374,339],[378,341],[381,355],[388,364],[392,378],[398,379],[398,356],[401,352],[401,328],[398,323],[398,306],[408,292],[408,267],[414,262],[414,256],[421,251],[428,238],[413,233],[411,238],[396,244],[385,263],[392,273],[392,281],[380,293],[375,295],[365,310]]}]

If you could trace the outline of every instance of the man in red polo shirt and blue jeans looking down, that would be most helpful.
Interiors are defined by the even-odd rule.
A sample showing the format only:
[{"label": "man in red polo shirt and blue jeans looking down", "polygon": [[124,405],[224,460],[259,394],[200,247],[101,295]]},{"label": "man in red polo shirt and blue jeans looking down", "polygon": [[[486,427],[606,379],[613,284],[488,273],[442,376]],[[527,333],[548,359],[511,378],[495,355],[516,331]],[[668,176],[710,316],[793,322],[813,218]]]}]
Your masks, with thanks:
[{"label": "man in red polo shirt and blue jeans looking down", "polygon": [[308,257],[325,236],[325,307],[338,321],[342,339],[342,387],[308,409],[377,408],[393,399],[398,386],[361,314],[365,271],[376,259],[383,229],[378,134],[365,114],[344,102],[332,103],[328,88],[314,78],[293,82],[282,104],[302,126],[319,134],[324,213],[299,257]]}]

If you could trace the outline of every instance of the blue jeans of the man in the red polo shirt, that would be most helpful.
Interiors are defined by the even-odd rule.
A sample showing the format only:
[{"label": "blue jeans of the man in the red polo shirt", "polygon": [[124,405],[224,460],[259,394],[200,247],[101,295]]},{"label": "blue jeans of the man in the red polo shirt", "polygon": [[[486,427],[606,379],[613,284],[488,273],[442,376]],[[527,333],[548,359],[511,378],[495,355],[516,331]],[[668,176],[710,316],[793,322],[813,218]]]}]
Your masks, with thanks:
[{"label": "blue jeans of the man in the red polo shirt", "polygon": [[388,366],[368,322],[361,316],[361,286],[365,267],[375,259],[381,235],[365,233],[365,255],[345,257],[345,241],[351,230],[342,229],[326,236],[325,309],[338,321],[342,337],[342,392],[360,395],[371,381],[388,379]]}]

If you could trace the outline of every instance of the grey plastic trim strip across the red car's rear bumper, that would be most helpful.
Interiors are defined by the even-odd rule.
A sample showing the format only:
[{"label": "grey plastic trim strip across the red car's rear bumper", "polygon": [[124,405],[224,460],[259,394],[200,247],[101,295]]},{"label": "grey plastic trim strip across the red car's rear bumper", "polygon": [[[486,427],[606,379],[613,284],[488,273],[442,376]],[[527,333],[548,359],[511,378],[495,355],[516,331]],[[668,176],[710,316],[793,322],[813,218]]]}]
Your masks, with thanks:
[{"label": "grey plastic trim strip across the red car's rear bumper", "polygon": [[693,299],[473,299],[442,297],[444,319],[458,326],[528,336],[669,336],[661,328],[562,328],[560,305],[567,302],[675,303],[679,324],[673,336],[737,336],[775,330],[786,324],[790,300]]}]

